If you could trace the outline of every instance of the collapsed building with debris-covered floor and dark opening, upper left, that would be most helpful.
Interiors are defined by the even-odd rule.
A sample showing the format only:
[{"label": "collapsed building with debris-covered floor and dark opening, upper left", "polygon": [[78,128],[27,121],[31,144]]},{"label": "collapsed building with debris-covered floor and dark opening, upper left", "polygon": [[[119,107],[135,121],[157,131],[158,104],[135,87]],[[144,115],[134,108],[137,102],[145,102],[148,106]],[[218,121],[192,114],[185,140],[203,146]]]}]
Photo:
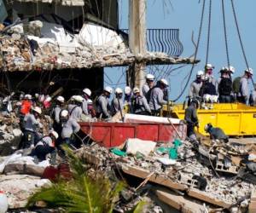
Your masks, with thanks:
[{"label": "collapsed building with debris-covered floor and dark opening, upper left", "polygon": [[[103,68],[107,66],[193,62],[178,58],[181,51],[134,54],[128,35],[119,29],[118,1],[2,4],[2,21],[9,25],[0,29],[2,89],[6,91],[52,94],[61,88],[70,95],[86,85],[97,93],[103,87]],[[175,33],[166,38],[166,46],[180,46],[181,50]]]}]

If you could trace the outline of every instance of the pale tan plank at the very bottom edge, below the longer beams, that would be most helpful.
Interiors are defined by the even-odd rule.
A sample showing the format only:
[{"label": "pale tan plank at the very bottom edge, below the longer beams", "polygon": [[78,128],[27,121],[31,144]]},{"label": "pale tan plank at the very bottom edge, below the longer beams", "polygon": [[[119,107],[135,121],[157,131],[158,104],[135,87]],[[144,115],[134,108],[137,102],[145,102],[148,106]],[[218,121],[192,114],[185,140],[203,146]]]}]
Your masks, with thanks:
[{"label": "pale tan plank at the very bottom edge, below the longer beams", "polygon": [[185,213],[201,213],[205,212],[205,208],[202,204],[197,204],[189,199],[185,199],[181,195],[166,192],[163,190],[156,190],[157,197],[164,203],[172,206],[176,210],[180,210]]}]

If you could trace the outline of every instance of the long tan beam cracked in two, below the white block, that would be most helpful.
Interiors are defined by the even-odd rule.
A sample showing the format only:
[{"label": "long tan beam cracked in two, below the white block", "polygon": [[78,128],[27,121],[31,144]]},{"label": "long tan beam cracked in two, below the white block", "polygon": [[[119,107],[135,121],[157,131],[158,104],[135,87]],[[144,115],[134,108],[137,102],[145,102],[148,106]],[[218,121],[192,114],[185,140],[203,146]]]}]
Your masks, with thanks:
[{"label": "long tan beam cracked in two, below the white block", "polygon": [[[151,172],[148,170],[143,170],[138,167],[134,166],[122,166],[122,170],[125,172],[125,174],[131,175],[131,176],[137,176],[139,178],[145,179]],[[171,181],[170,179],[167,179],[164,176],[160,175],[153,175],[150,177],[149,181],[160,184],[165,187],[174,188],[177,190],[186,190],[187,186],[176,183],[174,181]]]}]

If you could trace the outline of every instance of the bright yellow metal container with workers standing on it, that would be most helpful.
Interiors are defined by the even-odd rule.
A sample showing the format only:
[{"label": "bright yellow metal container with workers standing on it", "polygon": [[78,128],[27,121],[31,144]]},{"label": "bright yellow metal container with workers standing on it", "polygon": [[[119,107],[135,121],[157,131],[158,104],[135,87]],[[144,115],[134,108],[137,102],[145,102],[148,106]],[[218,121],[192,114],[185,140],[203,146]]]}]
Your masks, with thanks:
[{"label": "bright yellow metal container with workers standing on it", "polygon": [[[164,116],[171,114],[173,118],[183,119],[184,112],[182,104],[163,107]],[[212,109],[198,109],[197,114],[202,135],[207,135],[204,127],[208,123],[223,129],[226,135],[256,135],[256,107],[241,103],[213,104]]]}]

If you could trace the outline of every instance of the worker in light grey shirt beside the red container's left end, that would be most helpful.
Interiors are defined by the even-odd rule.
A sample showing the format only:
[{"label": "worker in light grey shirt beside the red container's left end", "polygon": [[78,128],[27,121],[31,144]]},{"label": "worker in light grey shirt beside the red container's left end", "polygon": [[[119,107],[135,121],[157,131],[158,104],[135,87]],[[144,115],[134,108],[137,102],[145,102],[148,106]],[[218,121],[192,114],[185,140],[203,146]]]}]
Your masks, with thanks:
[{"label": "worker in light grey shirt beside the red container's left end", "polygon": [[74,118],[69,116],[67,110],[61,111],[61,126],[61,143],[73,144],[72,135],[79,132],[80,126]]}]

